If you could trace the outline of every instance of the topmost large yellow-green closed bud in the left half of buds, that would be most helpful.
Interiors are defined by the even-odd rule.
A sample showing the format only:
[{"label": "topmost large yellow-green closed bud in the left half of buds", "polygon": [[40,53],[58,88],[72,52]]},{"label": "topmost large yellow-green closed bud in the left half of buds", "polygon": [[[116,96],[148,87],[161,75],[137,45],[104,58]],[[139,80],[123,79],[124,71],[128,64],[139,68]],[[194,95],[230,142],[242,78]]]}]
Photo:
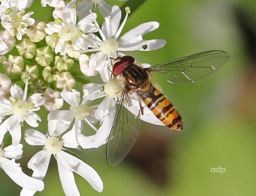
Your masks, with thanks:
[{"label": "topmost large yellow-green closed bud in the left half of buds", "polygon": [[27,38],[22,39],[22,41],[16,44],[16,48],[20,56],[26,57],[27,59],[33,58],[35,56],[35,52],[37,52],[37,46],[35,46],[35,43],[31,42]]}]

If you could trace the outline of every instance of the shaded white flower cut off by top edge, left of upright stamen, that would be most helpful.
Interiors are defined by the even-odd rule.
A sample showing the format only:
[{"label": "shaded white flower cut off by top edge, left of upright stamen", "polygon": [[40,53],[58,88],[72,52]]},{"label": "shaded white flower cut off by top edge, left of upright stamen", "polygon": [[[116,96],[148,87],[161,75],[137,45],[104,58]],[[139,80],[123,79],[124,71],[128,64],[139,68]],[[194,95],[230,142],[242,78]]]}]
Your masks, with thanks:
[{"label": "shaded white flower cut off by top edge, left of upright stamen", "polygon": [[[126,1],[126,0],[116,0],[116,1]],[[95,10],[98,7],[102,16],[105,18],[111,14],[111,5],[108,5],[104,0],[84,0],[77,3],[77,15],[79,18],[90,14],[90,10]]]}]

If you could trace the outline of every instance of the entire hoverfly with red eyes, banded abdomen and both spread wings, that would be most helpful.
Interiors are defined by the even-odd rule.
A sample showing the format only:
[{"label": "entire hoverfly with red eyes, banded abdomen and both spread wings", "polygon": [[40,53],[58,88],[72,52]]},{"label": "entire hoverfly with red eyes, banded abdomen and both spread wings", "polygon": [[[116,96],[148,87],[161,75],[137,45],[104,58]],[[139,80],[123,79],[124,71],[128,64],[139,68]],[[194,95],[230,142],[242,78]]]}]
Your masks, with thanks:
[{"label": "entire hoverfly with red eyes, banded abdomen and both spread wings", "polygon": [[[174,131],[182,131],[183,121],[177,110],[149,80],[149,74],[158,72],[166,75],[171,84],[190,83],[219,70],[230,55],[221,50],[200,52],[182,57],[168,63],[142,68],[136,65],[134,57],[123,56],[115,59],[113,75],[122,80],[124,90],[120,97],[114,122],[107,142],[107,161],[115,166],[130,152],[139,132],[138,116],[127,112],[129,93],[139,97],[140,113],[143,116],[141,103],[145,103],[155,116]],[[126,108],[124,107],[126,105]]]}]

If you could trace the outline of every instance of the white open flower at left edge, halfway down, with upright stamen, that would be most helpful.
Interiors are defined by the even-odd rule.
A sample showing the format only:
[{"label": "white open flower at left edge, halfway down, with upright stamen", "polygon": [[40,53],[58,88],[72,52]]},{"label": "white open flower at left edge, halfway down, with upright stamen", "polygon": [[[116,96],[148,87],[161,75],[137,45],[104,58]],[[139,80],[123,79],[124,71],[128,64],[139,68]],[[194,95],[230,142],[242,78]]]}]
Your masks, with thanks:
[{"label": "white open flower at left edge, halfway down, with upright stamen", "polygon": [[23,91],[20,86],[14,84],[10,88],[10,100],[5,97],[0,97],[0,116],[9,116],[0,125],[0,142],[5,137],[5,133],[9,131],[12,137],[12,144],[17,146],[21,139],[21,127],[24,122],[31,127],[37,127],[39,124],[37,120],[41,118],[35,113],[40,110],[43,105],[44,99],[41,93],[34,93],[27,98],[27,81],[26,87]]}]

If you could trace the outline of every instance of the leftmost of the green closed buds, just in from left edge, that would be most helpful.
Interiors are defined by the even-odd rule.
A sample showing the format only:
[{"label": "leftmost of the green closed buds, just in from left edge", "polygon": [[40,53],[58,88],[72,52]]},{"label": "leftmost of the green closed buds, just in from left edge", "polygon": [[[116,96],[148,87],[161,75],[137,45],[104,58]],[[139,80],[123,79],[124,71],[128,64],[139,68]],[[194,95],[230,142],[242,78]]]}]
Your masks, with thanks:
[{"label": "leftmost of the green closed buds, just in from left edge", "polygon": [[19,75],[24,69],[24,59],[22,56],[9,55],[8,60],[3,62],[3,68],[9,76]]}]

